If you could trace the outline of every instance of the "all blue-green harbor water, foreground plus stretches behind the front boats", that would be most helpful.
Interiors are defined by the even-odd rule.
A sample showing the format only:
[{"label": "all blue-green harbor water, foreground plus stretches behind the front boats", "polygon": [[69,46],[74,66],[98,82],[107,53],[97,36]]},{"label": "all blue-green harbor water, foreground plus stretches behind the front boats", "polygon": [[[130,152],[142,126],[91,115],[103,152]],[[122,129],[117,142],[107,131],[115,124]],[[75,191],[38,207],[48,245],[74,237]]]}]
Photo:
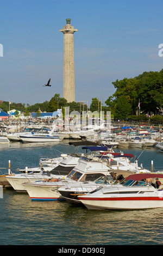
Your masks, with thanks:
[{"label": "all blue-green harbor water, foreground plus stretches behind the front boats", "polygon": [[[65,141],[63,142],[65,143]],[[40,156],[53,156],[54,149],[68,153],[68,145],[0,146],[0,167],[38,166]],[[120,149],[115,149],[120,151]],[[138,157],[142,149],[127,149]],[[139,164],[163,169],[163,154],[146,149]],[[3,169],[3,172],[7,170]],[[0,245],[161,245],[163,208],[134,211],[91,211],[65,202],[35,202],[28,194],[3,190],[0,199]]]}]

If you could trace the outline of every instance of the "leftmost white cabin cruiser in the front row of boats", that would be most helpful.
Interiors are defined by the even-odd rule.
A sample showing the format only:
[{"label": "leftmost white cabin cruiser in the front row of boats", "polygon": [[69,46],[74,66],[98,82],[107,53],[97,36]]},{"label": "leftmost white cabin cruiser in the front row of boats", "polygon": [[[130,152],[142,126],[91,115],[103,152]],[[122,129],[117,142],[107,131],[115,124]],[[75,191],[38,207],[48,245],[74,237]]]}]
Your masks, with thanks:
[{"label": "leftmost white cabin cruiser in the front row of boats", "polygon": [[[70,142],[69,145],[74,146],[75,149],[78,150],[80,145],[96,145],[97,143],[94,142]],[[71,148],[72,149],[72,148]],[[73,154],[61,154],[61,156],[55,159],[43,159],[41,158],[41,164],[45,163],[48,168],[45,167],[36,167],[36,168],[25,168],[25,169],[18,169],[20,174],[12,174],[6,176],[6,179],[10,183],[10,185],[16,191],[26,191],[22,183],[35,181],[35,180],[44,180],[49,178],[55,178],[55,175],[64,175],[66,176],[71,170],[76,166],[78,160],[82,153],[78,153],[75,150]],[[47,160],[47,162],[46,162]]]}]

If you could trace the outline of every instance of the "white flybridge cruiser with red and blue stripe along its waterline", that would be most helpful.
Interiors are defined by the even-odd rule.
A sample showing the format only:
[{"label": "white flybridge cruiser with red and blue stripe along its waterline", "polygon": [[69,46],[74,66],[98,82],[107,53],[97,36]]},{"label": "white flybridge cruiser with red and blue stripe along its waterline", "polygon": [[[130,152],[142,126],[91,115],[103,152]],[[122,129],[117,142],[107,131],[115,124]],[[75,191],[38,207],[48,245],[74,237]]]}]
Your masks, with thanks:
[{"label": "white flybridge cruiser with red and blue stripe along its waterline", "polygon": [[[93,153],[95,153],[95,150],[108,150],[104,147],[93,148]],[[52,179],[51,182],[47,182],[48,180],[36,180],[34,182],[25,182],[22,186],[24,186],[32,200],[60,200],[64,197],[58,192],[58,188],[65,186],[65,184],[76,184],[77,181],[82,181],[85,184],[85,182],[93,182],[97,178],[106,175],[109,175],[112,179],[105,158],[102,155],[101,158],[96,157],[95,154],[93,155],[86,156],[83,154],[77,165],[64,178],[64,181],[63,179],[55,181]],[[102,162],[102,159],[104,159],[104,162]],[[94,182],[93,185],[95,185]]]}]

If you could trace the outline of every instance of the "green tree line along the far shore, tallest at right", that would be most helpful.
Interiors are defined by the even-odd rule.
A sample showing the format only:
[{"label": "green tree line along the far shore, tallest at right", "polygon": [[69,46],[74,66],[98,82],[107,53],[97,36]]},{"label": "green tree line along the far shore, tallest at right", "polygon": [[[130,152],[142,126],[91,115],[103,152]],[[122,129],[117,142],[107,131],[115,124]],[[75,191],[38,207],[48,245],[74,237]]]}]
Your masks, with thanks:
[{"label": "green tree line along the far shore, tallest at right", "polygon": [[[60,94],[55,94],[51,100],[43,103],[35,103],[25,107],[24,103],[10,104],[10,110],[16,109],[28,115],[31,112],[54,112],[58,108],[70,106],[72,111],[111,111],[114,118],[118,119],[135,119],[148,118],[152,114],[160,115],[163,107],[163,69],[161,71],[143,72],[141,75],[134,78],[124,77],[122,80],[112,82],[116,91],[105,101],[105,106],[97,97],[92,98],[91,105],[88,108],[84,102],[68,103]],[[108,89],[109,91],[109,89]],[[140,105],[139,105],[140,104]],[[139,107],[140,106],[140,107]],[[9,111],[9,102],[0,101],[0,108],[3,111]]]}]

